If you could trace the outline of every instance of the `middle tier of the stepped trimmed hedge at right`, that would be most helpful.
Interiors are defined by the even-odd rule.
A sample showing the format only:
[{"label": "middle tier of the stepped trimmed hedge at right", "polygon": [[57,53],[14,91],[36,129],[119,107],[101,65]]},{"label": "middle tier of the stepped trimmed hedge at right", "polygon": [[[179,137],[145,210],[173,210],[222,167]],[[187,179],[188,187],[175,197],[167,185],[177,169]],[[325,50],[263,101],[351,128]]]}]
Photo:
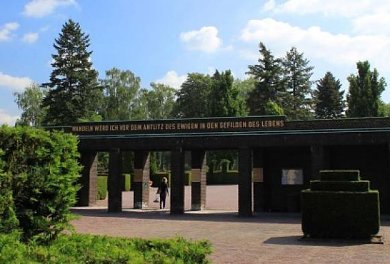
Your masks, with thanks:
[{"label": "middle tier of the stepped trimmed hedge at right", "polygon": [[311,181],[310,189],[324,192],[368,192],[369,181]]}]

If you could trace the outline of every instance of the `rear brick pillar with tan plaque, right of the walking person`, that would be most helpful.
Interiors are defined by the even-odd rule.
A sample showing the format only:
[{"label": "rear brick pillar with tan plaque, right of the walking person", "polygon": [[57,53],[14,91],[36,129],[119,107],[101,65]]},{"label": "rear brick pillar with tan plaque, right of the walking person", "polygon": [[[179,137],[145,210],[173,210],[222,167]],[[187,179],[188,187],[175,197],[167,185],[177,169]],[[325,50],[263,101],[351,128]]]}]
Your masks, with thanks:
[{"label": "rear brick pillar with tan plaque, right of the walking person", "polygon": [[191,210],[204,210],[206,208],[205,150],[192,150],[191,168]]}]

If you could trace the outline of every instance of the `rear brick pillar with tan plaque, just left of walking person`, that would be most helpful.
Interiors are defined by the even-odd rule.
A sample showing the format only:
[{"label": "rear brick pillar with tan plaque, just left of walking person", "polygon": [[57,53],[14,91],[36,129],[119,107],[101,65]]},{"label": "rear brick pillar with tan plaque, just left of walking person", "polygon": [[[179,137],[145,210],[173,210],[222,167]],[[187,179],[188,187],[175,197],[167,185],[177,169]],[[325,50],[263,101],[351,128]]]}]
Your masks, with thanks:
[{"label": "rear brick pillar with tan plaque, just left of walking person", "polygon": [[144,209],[149,203],[151,156],[148,151],[134,152],[134,208]]}]

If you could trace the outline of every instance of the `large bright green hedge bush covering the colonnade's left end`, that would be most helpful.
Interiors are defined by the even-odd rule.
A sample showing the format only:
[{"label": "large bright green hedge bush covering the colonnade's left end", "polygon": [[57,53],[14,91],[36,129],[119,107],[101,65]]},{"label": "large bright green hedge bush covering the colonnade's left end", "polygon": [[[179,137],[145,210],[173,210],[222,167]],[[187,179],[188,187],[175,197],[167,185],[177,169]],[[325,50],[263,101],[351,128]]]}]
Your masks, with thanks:
[{"label": "large bright green hedge bush covering the colonnade's left end", "polygon": [[[81,167],[77,137],[31,127],[0,127],[1,196],[16,214],[24,239],[53,239],[69,228]],[[3,175],[7,176],[3,176]],[[10,200],[12,195],[12,200]],[[12,203],[13,201],[13,203]],[[14,224],[15,222],[12,221]]]}]

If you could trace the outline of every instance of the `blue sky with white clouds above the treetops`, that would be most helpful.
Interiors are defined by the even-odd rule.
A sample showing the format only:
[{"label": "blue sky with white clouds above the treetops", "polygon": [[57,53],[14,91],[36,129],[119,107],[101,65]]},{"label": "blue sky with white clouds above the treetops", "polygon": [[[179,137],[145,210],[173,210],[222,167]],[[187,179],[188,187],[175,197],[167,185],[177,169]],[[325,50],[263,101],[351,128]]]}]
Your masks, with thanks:
[{"label": "blue sky with white clouds above the treetops", "polygon": [[[142,88],[178,89],[188,72],[216,68],[245,79],[259,42],[276,57],[296,47],[315,67],[313,81],[330,71],[348,90],[356,62],[368,60],[390,85],[388,0],[0,0],[0,124],[21,114],[14,92],[49,81],[69,18],[89,34],[99,78],[131,70]],[[390,103],[390,88],[382,100]]]}]

